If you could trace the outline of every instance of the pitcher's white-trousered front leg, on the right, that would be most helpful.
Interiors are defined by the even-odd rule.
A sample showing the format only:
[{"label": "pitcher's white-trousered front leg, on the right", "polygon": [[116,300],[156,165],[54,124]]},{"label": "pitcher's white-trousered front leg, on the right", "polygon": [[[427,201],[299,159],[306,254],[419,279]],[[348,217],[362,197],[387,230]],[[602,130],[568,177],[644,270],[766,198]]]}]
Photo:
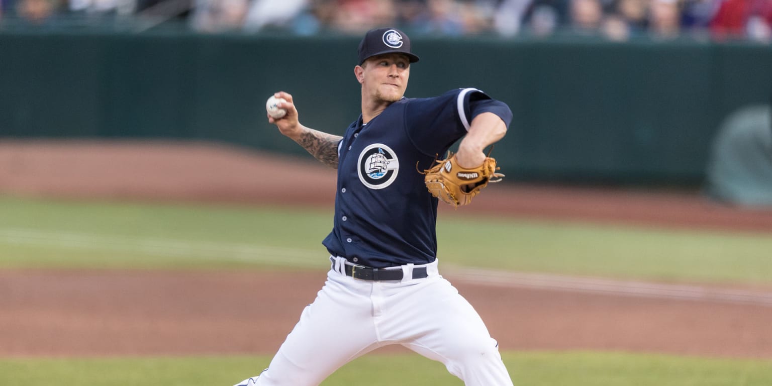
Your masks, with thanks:
[{"label": "pitcher's white-trousered front leg, on the right", "polygon": [[511,386],[498,343],[477,311],[445,279],[426,290],[430,299],[411,317],[426,328],[405,347],[441,361],[466,386]]}]

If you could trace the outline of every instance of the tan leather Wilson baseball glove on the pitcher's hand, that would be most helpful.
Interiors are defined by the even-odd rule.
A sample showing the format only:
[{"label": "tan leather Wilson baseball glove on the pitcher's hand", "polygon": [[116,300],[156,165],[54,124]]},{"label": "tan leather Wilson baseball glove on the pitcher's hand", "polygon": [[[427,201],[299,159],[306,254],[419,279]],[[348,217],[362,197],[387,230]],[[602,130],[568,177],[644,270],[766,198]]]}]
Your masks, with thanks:
[{"label": "tan leather Wilson baseball glove on the pitcher's hand", "polygon": [[422,171],[425,174],[426,188],[433,196],[458,208],[468,205],[472,197],[479,194],[489,182],[501,181],[504,174],[496,173],[496,160],[486,157],[476,168],[462,168],[455,160],[455,154],[448,152],[448,157],[437,161],[432,168]]}]

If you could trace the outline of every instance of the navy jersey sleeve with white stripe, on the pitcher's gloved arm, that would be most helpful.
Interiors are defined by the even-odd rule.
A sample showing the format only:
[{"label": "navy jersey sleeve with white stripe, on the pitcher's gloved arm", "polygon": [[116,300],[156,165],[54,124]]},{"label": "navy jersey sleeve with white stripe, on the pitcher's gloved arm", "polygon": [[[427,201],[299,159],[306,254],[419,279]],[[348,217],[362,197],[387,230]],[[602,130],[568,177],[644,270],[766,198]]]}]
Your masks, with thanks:
[{"label": "navy jersey sleeve with white stripe, on the pitcher's gloved arm", "polygon": [[445,152],[463,137],[474,117],[495,113],[509,127],[512,112],[506,103],[473,88],[450,90],[438,97],[410,100],[405,122],[411,141],[428,155]]}]

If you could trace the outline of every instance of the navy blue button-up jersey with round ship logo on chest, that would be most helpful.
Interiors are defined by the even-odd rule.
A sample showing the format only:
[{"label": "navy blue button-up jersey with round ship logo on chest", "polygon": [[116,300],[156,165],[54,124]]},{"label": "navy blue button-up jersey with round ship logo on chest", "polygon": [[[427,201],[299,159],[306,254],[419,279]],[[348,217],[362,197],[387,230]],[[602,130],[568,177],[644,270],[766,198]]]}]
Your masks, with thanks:
[{"label": "navy blue button-up jersey with round ship logo on chest", "polygon": [[423,170],[466,134],[479,113],[509,127],[505,103],[476,89],[433,98],[403,98],[367,124],[360,116],[338,145],[334,228],[322,242],[330,254],[384,268],[433,262],[437,198]]}]

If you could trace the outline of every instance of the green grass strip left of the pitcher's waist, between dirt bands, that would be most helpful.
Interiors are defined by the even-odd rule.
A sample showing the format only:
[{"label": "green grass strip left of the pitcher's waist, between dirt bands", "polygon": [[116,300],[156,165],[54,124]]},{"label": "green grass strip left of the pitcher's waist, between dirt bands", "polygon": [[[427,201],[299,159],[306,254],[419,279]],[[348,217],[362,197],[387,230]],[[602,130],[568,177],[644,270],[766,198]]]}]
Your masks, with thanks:
[{"label": "green grass strip left of the pitcher's waist, between dirt bands", "polygon": [[0,198],[0,266],[325,266],[331,227],[310,208]]}]

